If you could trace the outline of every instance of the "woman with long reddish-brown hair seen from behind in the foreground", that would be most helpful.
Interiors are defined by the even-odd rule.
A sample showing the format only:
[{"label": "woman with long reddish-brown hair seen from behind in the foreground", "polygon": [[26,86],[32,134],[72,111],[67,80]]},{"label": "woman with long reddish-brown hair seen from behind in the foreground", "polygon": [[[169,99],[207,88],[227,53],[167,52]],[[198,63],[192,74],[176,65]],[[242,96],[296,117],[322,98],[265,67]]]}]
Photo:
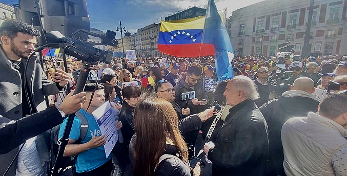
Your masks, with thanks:
[{"label": "woman with long reddish-brown hair seen from behind in the foreground", "polygon": [[[134,175],[193,175],[187,145],[177,122],[174,108],[165,99],[149,98],[136,106],[135,135],[131,144]],[[164,154],[167,154],[165,159],[162,158]]]}]

